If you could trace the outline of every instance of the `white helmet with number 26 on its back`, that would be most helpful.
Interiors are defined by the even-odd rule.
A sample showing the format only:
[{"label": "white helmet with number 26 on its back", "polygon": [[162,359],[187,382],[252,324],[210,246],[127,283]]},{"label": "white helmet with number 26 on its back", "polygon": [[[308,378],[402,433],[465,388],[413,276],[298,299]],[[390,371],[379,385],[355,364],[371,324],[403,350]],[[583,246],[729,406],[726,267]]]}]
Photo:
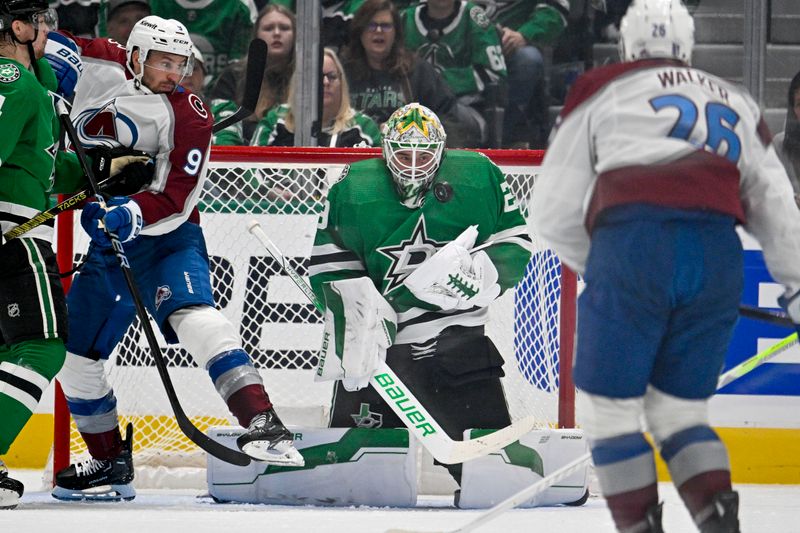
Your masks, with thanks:
[{"label": "white helmet with number 26 on its back", "polygon": [[623,61],[646,57],[692,60],[694,20],[681,0],[633,0],[619,33]]}]

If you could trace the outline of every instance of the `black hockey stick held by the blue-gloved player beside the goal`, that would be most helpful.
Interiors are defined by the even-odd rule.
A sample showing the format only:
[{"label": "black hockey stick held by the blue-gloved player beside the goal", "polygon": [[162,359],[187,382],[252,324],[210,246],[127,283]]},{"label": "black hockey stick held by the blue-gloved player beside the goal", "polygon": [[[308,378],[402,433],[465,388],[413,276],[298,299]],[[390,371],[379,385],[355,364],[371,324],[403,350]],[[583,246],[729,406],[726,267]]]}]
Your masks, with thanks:
[{"label": "black hockey stick held by the blue-gloved player beside the goal", "polygon": [[[67,111],[66,106],[61,101],[58,101],[56,106],[58,108],[59,119],[61,120],[65,131],[67,132],[70,142],[72,142],[72,145],[75,148],[78,161],[80,162],[81,167],[83,168],[83,171],[86,173],[86,177],[89,180],[92,193],[97,198],[97,202],[101,206],[105,207],[105,199],[100,193],[100,187],[94,177],[91,165],[88,163],[86,152],[84,151],[83,146],[78,142],[78,135],[75,132],[75,126],[73,126],[72,120],[69,118],[69,111]],[[139,321],[142,323],[142,329],[144,330],[145,337],[147,337],[147,344],[150,348],[153,359],[156,362],[158,374],[161,377],[161,382],[164,384],[164,389],[167,392],[167,397],[169,398],[172,411],[175,414],[175,420],[178,423],[178,427],[181,428],[181,431],[183,431],[184,435],[186,435],[192,442],[214,457],[238,466],[249,465],[249,455],[238,450],[228,448],[227,446],[223,446],[219,442],[213,440],[208,435],[197,429],[197,427],[195,427],[191,420],[189,420],[189,418],[186,416],[186,413],[184,413],[183,408],[178,401],[178,396],[175,394],[175,387],[172,385],[169,372],[167,372],[167,363],[164,361],[164,356],[161,353],[161,348],[158,346],[158,340],[153,332],[153,327],[150,325],[150,319],[147,317],[147,310],[142,303],[142,297],[139,294],[139,289],[133,279],[130,263],[128,262],[128,257],[125,255],[125,250],[122,247],[122,243],[119,241],[119,237],[117,235],[114,235],[108,231],[107,228],[105,231],[108,235],[108,238],[111,240],[114,253],[119,261],[120,270],[122,271],[122,275],[125,278],[125,283],[128,285],[128,289],[130,290],[133,304],[136,307],[136,315],[139,317]]]}]

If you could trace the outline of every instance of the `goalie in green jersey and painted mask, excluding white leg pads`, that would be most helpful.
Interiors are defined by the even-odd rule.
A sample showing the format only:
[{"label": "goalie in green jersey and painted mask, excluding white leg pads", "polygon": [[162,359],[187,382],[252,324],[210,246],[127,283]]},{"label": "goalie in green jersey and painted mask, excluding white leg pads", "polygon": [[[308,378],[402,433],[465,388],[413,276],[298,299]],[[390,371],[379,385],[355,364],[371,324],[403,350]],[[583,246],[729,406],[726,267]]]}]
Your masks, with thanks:
[{"label": "goalie in green jersey and painted mask, excluding white leg pads", "polygon": [[530,237],[500,169],[444,146],[439,118],[408,104],[386,122],[384,158],[353,163],[329,192],[309,274],[337,356],[318,371],[340,380],[333,427],[405,427],[366,388],[384,358],[450,437],[510,424],[484,325],[522,278]]}]

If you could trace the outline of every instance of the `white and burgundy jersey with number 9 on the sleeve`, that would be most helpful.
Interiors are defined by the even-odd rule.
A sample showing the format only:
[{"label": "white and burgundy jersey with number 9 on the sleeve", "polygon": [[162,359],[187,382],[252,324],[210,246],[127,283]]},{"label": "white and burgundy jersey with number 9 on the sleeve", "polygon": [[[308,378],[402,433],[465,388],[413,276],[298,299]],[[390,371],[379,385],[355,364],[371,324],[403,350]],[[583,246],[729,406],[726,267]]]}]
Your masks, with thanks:
[{"label": "white and burgundy jersey with number 9 on the sleeve", "polygon": [[124,146],[155,159],[152,182],[131,196],[142,209],[141,234],[163,235],[187,220],[199,222],[213,124],[208,108],[182,88],[170,94],[137,88],[125,48],[115,41],[69,37],[84,64],[72,107],[81,143]]}]

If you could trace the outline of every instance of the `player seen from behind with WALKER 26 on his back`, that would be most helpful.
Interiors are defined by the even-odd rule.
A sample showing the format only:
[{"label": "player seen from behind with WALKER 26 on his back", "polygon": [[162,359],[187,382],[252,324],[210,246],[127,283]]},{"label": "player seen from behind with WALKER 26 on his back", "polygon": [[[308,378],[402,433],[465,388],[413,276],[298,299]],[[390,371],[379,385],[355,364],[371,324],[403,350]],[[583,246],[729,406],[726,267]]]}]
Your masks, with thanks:
[{"label": "player seen from behind with WALKER 26 on his back", "polygon": [[579,412],[619,531],[656,532],[646,421],[698,529],[738,532],[725,445],[709,426],[743,286],[736,225],[760,242],[800,323],[800,212],[756,102],[691,68],[679,0],[634,0],[623,63],[572,88],[536,184],[531,231],[584,276]]}]

